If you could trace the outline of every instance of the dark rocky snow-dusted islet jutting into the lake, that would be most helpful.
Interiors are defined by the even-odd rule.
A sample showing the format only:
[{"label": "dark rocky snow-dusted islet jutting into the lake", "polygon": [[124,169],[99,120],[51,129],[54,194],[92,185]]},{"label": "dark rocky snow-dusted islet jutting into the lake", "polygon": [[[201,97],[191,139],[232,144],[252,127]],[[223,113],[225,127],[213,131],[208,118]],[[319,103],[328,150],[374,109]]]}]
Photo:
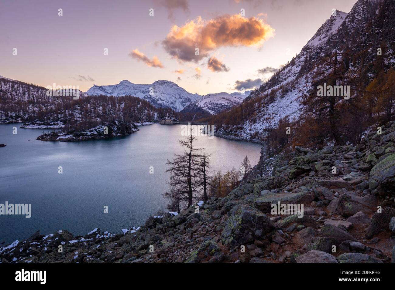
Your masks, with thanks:
[{"label": "dark rocky snow-dusted islet jutting into the lake", "polygon": [[139,131],[136,125],[124,121],[112,121],[106,125],[99,125],[88,130],[69,129],[60,132],[44,133],[37,137],[41,141],[84,141],[122,137]]}]

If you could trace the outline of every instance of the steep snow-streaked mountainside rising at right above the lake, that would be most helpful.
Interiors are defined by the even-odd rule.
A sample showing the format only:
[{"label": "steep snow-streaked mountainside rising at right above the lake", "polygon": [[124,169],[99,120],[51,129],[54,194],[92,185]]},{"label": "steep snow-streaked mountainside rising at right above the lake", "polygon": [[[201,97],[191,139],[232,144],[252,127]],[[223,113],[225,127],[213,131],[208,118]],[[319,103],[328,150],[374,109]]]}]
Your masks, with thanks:
[{"label": "steep snow-streaked mountainside rising at right above the lake", "polygon": [[220,127],[217,132],[254,139],[265,129],[275,128],[283,117],[297,118],[303,88],[312,81],[325,56],[335,51],[350,55],[341,60],[347,73],[367,86],[374,76],[378,47],[383,49],[386,69],[395,64],[394,13],[395,2],[391,0],[358,0],[349,13],[336,10],[297,56],[246,98],[247,107],[253,109],[243,112],[242,123],[227,124],[226,117],[213,117],[212,122]]}]

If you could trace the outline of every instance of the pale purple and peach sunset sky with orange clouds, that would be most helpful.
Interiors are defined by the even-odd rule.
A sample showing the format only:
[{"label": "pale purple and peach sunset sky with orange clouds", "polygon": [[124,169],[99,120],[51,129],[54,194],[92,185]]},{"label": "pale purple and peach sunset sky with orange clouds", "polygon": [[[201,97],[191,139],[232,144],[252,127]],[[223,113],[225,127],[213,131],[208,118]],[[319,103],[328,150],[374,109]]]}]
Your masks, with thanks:
[{"label": "pale purple and peach sunset sky with orange clouds", "polygon": [[258,86],[300,52],[333,8],[349,12],[355,2],[1,0],[0,75],[84,92],[121,80],[233,92]]}]

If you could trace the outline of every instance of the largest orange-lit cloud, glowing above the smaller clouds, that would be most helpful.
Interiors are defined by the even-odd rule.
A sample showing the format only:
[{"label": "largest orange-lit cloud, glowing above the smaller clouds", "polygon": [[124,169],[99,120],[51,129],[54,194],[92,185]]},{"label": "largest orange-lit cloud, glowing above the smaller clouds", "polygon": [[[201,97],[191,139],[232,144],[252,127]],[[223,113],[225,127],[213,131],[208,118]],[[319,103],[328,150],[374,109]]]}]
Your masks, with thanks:
[{"label": "largest orange-lit cloud, glowing above the smaller clouds", "polygon": [[184,26],[174,25],[162,44],[174,58],[197,62],[219,47],[261,46],[273,36],[274,29],[263,19],[235,14],[209,21],[198,17]]}]

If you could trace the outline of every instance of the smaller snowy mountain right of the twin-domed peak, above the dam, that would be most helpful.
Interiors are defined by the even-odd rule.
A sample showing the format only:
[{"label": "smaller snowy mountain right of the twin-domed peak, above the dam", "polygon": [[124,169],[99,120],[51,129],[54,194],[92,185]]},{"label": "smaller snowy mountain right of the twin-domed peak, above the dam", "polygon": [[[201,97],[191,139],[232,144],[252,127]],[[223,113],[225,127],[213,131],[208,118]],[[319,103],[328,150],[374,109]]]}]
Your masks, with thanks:
[{"label": "smaller snowy mountain right of the twin-domed peak, above the dam", "polygon": [[196,101],[190,103],[181,112],[207,112],[215,115],[223,110],[239,105],[252,91],[246,91],[243,95],[239,92],[231,94],[221,92],[217,94],[203,95]]}]

